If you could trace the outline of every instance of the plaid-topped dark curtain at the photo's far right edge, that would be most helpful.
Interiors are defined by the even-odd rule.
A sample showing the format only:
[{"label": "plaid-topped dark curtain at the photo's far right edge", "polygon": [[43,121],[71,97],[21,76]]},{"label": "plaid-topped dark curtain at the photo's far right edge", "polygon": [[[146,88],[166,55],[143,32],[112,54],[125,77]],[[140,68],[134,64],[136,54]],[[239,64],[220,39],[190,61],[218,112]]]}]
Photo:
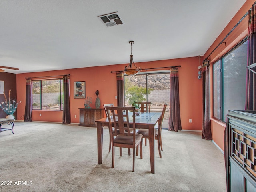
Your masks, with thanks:
[{"label": "plaid-topped dark curtain at the photo's far right edge", "polygon": [[[248,12],[248,66],[256,63],[256,10],[255,3]],[[247,70],[245,110],[256,110],[256,74]]]}]

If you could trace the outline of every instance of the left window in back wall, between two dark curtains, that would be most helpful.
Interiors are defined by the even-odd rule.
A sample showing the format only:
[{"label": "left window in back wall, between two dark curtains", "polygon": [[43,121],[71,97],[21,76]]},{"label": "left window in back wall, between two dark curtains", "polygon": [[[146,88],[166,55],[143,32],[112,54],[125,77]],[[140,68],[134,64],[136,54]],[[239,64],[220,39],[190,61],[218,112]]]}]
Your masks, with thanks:
[{"label": "left window in back wall, between two dark curtains", "polygon": [[63,80],[32,81],[33,110],[63,110]]}]

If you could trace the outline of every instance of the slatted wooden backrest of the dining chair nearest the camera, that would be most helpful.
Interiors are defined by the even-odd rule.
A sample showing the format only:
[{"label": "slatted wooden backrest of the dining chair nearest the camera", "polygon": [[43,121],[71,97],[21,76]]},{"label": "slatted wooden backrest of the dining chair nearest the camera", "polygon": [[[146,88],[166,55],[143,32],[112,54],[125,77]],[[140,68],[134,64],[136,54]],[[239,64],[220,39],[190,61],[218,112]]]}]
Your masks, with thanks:
[{"label": "slatted wooden backrest of the dining chair nearest the camera", "polygon": [[[112,136],[133,135],[135,137],[135,107],[107,106],[106,111],[108,114],[109,128],[110,132],[112,132]],[[131,112],[130,115],[132,116],[129,116],[129,111]],[[130,121],[129,118],[132,118],[132,121]],[[114,129],[112,128],[112,122],[114,123]]]}]

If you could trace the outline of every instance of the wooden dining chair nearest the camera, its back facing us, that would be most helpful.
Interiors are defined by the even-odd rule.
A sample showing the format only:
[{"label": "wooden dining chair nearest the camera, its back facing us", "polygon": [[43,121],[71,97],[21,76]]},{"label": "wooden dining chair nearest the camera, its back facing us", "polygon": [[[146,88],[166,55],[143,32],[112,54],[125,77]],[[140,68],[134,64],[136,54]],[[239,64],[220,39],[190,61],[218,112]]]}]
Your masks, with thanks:
[{"label": "wooden dining chair nearest the camera, its back facing us", "polygon": [[[138,149],[138,145],[140,145],[140,158],[142,159],[142,135],[136,133],[135,129],[135,107],[106,107],[106,110],[111,134],[111,168],[114,168],[115,147],[128,148],[133,149],[132,171],[134,172],[135,148]],[[132,116],[129,116],[129,111],[132,112]],[[130,118],[132,122],[129,121]],[[120,156],[122,156],[121,151]]]}]

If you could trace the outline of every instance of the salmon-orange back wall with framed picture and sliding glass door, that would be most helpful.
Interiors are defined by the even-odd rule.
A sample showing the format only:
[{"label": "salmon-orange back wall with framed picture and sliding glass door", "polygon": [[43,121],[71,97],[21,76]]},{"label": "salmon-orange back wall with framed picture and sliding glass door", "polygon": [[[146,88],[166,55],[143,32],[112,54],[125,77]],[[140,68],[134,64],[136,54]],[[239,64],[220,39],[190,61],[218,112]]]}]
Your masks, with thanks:
[{"label": "salmon-orange back wall with framed picture and sliding glass door", "polygon": [[[92,97],[95,107],[96,95],[94,92],[99,90],[101,105],[114,103],[116,94],[116,74],[110,71],[123,70],[127,64],[111,66],[98,66],[88,68],[77,68],[58,71],[35,72],[17,74],[17,98],[25,103],[26,98],[26,79],[25,77],[41,77],[70,74],[70,113],[71,122],[79,123],[79,110],[84,108],[84,99],[74,99],[74,82],[86,82],[86,97]],[[202,80],[198,80],[199,58],[180,58],[172,60],[160,60],[151,62],[136,63],[142,68],[166,67],[181,65],[179,68],[179,90],[180,90],[180,113],[182,129],[202,130]],[[103,106],[101,106],[103,108]],[[18,120],[24,119],[25,105],[18,108]],[[39,116],[39,114],[42,116]],[[75,118],[76,115],[76,118]],[[192,119],[189,123],[188,119]],[[62,122],[62,111],[33,110],[33,121]]]}]

